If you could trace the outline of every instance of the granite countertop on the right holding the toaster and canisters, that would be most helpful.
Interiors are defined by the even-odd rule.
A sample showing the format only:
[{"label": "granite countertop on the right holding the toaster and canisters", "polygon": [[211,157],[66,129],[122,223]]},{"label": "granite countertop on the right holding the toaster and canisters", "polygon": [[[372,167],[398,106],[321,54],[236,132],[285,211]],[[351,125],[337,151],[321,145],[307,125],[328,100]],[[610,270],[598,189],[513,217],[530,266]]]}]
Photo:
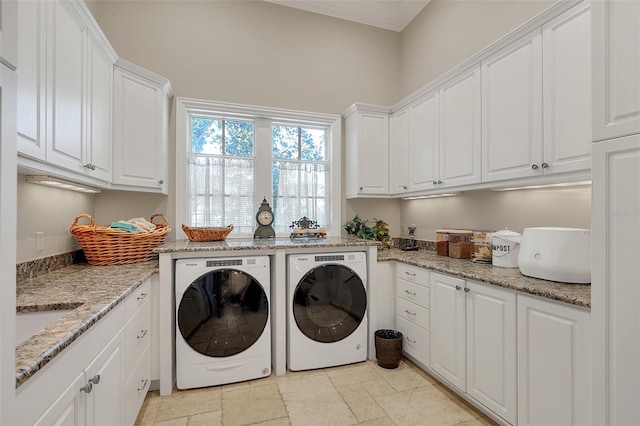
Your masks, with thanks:
[{"label": "granite countertop on the right holding the toaster and canisters", "polygon": [[378,252],[378,262],[390,260],[591,309],[590,284],[540,280],[522,275],[518,268],[500,268],[474,263],[469,259],[438,256],[431,251],[402,251],[391,248]]}]

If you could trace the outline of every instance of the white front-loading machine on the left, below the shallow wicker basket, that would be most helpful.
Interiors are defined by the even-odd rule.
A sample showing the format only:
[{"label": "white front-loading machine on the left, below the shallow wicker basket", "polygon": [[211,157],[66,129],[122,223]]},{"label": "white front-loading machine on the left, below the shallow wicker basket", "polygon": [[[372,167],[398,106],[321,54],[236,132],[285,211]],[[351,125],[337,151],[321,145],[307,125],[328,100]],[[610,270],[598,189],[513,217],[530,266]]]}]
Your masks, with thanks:
[{"label": "white front-loading machine on the left, below the shallow wicker basket", "polygon": [[271,374],[268,256],[176,261],[178,389]]}]

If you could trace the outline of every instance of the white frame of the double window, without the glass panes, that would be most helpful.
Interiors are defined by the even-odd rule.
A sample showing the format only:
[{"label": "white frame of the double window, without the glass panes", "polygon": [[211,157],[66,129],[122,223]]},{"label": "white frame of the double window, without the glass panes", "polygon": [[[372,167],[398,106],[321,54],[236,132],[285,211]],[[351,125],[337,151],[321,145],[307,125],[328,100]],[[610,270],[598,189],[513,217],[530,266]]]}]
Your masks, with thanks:
[{"label": "white frame of the double window, without the glass panes", "polygon": [[[241,105],[226,102],[205,101],[190,98],[176,99],[176,177],[175,177],[175,211],[176,223],[187,223],[187,185],[189,144],[191,140],[191,116],[223,117],[227,120],[252,120],[254,127],[255,187],[254,212],[258,211],[262,199],[266,196],[273,206],[271,186],[271,136],[274,123],[289,123],[299,126],[327,127],[326,156],[331,167],[330,191],[331,203],[327,226],[327,234],[339,236],[341,232],[340,210],[342,206],[341,184],[341,132],[340,115],[293,111],[279,108]],[[269,143],[264,141],[268,140]],[[314,219],[314,218],[311,218]],[[254,219],[255,221],[255,219]],[[178,230],[178,233],[180,231]],[[289,233],[278,233],[276,237],[288,237]],[[228,238],[253,238],[251,234],[231,233]],[[183,235],[178,235],[183,239]]]}]

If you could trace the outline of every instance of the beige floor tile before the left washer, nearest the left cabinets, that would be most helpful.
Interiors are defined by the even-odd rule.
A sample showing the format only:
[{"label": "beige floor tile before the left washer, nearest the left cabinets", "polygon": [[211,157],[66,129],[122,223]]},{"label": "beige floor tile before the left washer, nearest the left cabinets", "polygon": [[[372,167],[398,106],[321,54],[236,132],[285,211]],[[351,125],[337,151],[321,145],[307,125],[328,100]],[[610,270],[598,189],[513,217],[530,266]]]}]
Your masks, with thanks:
[{"label": "beige floor tile before the left washer, nearest the left cabinets", "polygon": [[156,422],[194,414],[219,411],[222,408],[222,391],[219,387],[175,391],[159,398]]}]

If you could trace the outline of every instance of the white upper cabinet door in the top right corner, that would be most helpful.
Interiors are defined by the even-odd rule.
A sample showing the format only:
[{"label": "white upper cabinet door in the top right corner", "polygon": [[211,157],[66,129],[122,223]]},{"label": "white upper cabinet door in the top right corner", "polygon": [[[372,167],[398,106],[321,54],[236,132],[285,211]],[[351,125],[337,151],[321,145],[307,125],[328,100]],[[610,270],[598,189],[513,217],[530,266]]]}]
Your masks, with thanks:
[{"label": "white upper cabinet door in the top right corner", "polygon": [[593,138],[640,133],[640,2],[592,2]]}]

